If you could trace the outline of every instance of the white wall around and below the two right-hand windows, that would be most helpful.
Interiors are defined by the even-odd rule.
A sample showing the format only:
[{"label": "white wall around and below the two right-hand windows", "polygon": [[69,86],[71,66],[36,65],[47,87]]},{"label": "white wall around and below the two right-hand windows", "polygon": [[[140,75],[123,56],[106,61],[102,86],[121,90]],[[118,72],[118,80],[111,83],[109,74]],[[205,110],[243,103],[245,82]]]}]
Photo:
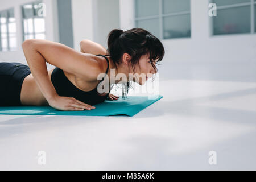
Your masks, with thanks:
[{"label": "white wall around and below the two right-hand windows", "polygon": [[[134,28],[134,5],[119,0],[121,29]],[[191,38],[162,40],[168,61],[256,60],[256,34],[210,35],[208,1],[191,0]]]}]

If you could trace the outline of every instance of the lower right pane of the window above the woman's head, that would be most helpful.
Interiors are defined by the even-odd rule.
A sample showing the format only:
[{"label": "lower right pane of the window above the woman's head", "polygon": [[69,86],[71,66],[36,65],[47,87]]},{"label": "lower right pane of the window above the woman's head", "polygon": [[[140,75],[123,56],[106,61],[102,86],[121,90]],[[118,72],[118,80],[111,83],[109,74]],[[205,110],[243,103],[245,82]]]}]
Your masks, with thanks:
[{"label": "lower right pane of the window above the woman's head", "polygon": [[191,36],[190,14],[163,18],[164,39]]}]

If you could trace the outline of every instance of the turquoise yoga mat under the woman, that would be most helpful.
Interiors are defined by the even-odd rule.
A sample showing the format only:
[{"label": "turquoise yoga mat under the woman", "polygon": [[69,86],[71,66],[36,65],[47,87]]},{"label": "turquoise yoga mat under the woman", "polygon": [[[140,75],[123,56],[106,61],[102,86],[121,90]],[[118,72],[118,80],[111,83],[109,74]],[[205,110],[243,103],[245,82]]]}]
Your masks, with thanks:
[{"label": "turquoise yoga mat under the woman", "polygon": [[8,115],[127,115],[133,116],[139,111],[160,100],[163,96],[127,96],[118,100],[106,100],[94,105],[96,109],[83,111],[61,111],[50,106],[8,106],[0,107],[0,114]]}]

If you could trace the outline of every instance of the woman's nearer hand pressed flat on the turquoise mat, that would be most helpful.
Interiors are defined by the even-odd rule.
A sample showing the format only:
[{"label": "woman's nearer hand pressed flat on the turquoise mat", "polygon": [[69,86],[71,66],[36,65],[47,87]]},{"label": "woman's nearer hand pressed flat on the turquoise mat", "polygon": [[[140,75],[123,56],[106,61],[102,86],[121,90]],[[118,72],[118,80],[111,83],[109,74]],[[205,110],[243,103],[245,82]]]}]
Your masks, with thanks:
[{"label": "woman's nearer hand pressed flat on the turquoise mat", "polygon": [[95,109],[94,106],[85,104],[73,97],[63,97],[56,95],[48,101],[49,105],[58,110],[91,110]]}]

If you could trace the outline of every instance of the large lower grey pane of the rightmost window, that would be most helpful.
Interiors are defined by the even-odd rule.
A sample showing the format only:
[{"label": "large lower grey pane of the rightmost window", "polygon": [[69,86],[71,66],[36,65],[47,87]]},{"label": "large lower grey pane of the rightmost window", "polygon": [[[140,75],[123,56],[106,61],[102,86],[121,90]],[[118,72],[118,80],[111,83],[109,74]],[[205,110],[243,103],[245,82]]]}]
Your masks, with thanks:
[{"label": "large lower grey pane of the rightmost window", "polygon": [[213,27],[213,35],[250,32],[250,6],[218,10]]}]

